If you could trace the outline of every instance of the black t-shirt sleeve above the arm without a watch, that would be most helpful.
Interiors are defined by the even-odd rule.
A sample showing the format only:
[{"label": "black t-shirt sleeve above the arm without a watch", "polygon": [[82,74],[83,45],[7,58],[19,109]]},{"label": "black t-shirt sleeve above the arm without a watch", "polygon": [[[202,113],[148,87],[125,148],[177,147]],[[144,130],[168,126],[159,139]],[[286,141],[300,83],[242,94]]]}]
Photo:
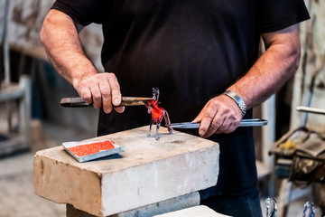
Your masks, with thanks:
[{"label": "black t-shirt sleeve above the arm without a watch", "polygon": [[101,24],[105,0],[56,0],[51,9],[68,14],[82,25]]}]

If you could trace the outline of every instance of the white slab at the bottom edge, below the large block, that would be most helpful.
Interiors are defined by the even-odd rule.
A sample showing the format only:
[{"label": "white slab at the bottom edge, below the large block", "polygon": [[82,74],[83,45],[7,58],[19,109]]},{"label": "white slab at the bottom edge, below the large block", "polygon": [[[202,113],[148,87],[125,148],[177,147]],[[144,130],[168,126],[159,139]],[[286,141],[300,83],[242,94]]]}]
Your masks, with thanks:
[{"label": "white slab at the bottom edge, below the large block", "polygon": [[208,206],[204,206],[204,205],[193,206],[180,211],[154,215],[154,217],[227,217],[227,216],[228,215],[215,212],[212,209],[210,209]]}]

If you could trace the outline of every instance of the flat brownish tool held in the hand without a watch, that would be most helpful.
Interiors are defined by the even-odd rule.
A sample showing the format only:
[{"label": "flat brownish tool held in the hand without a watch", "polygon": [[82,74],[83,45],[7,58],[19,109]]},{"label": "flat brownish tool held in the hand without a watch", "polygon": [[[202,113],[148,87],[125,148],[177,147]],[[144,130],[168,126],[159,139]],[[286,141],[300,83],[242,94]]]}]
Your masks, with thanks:
[{"label": "flat brownish tool held in the hand without a watch", "polygon": [[[152,100],[153,98],[138,98],[138,97],[122,97],[121,104],[119,106],[144,106],[146,101]],[[70,108],[83,108],[89,107],[92,104],[84,101],[82,98],[62,98],[60,100],[62,107]]]}]

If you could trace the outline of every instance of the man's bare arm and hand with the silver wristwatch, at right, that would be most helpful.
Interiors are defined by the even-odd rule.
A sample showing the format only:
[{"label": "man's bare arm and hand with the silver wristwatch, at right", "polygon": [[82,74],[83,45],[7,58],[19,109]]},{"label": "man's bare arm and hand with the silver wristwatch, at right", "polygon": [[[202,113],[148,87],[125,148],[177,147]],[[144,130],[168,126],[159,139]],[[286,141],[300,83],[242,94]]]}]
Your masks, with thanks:
[{"label": "man's bare arm and hand with the silver wristwatch, at right", "polygon": [[[228,88],[244,100],[246,109],[273,95],[292,77],[300,64],[299,24],[274,33],[263,33],[262,38],[265,53],[245,76]],[[210,137],[214,133],[233,132],[242,118],[242,111],[235,100],[221,94],[210,99],[194,121],[200,122],[200,136]]]}]

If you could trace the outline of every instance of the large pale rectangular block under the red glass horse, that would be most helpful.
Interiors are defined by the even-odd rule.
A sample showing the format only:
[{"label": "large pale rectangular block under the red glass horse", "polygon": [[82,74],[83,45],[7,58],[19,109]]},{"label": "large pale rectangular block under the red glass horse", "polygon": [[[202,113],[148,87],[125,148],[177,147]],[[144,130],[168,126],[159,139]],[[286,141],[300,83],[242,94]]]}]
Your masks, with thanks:
[{"label": "large pale rectangular block under the red glass horse", "polygon": [[158,203],[217,183],[218,144],[161,128],[161,139],[139,127],[104,137],[125,152],[79,163],[62,146],[36,153],[34,189],[56,203],[98,216]]}]

